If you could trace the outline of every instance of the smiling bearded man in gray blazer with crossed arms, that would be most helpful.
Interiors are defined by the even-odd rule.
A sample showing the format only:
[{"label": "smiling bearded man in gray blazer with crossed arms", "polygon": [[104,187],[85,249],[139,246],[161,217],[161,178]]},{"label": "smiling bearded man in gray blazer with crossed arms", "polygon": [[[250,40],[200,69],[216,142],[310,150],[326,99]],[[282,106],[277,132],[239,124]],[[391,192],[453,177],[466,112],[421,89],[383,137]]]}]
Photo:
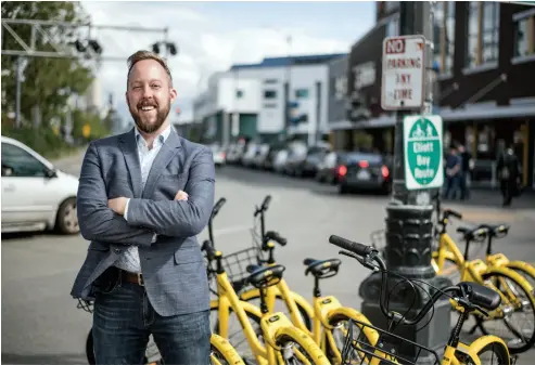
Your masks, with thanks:
[{"label": "smiling bearded man in gray blazer with crossed arms", "polygon": [[128,58],[136,127],[92,142],[77,210],[91,242],[72,296],[94,301],[98,364],[141,364],[152,334],[165,364],[209,363],[209,290],[195,236],[214,205],[212,152],[169,123],[177,96],[158,55]]}]

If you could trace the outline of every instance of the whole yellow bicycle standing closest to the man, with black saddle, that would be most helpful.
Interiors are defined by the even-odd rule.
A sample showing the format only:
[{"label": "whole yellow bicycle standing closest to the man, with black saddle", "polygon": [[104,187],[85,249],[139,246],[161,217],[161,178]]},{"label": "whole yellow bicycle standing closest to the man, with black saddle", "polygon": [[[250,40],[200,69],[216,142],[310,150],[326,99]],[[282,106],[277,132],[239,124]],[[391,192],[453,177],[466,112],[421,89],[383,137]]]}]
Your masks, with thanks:
[{"label": "whole yellow bicycle standing closest to the man, with black saddle", "polygon": [[[330,364],[310,336],[293,326],[282,312],[269,313],[267,309],[266,292],[282,278],[284,266],[262,268],[252,271],[247,277],[247,282],[260,290],[260,309],[258,309],[241,301],[235,294],[221,262],[222,253],[216,251],[209,240],[203,244],[202,249],[206,253],[208,268],[212,268],[213,261],[216,263],[218,298],[212,301],[211,308],[218,314],[218,335],[224,338],[229,337],[228,321],[230,313],[233,312],[240,321],[249,346],[259,365]],[[260,333],[254,330],[252,322],[259,323]],[[264,343],[258,336],[262,337]]]}]

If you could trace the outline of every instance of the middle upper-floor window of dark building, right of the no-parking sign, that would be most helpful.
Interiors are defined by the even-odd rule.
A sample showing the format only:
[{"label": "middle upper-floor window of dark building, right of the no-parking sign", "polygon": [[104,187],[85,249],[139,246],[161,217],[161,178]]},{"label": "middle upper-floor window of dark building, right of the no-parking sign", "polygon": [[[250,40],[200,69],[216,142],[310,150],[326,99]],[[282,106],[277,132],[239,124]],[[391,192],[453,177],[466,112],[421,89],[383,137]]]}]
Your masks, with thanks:
[{"label": "middle upper-floor window of dark building, right of the no-parking sign", "polygon": [[467,18],[467,67],[498,61],[499,2],[470,1]]}]

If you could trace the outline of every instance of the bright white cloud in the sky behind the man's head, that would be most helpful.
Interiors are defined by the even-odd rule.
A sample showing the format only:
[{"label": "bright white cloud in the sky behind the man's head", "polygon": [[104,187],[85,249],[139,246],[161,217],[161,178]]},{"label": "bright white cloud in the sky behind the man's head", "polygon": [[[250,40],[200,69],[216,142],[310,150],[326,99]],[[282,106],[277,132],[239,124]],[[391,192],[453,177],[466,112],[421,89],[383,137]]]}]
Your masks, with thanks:
[{"label": "bright white cloud in the sky behind the man's head", "polygon": [[[276,4],[273,3],[273,6]],[[192,118],[191,102],[206,88],[209,75],[215,71],[226,70],[237,63],[256,63],[266,56],[284,56],[289,52],[348,52],[351,42],[355,40],[355,32],[346,37],[336,37],[333,34],[323,36],[317,31],[320,25],[314,27],[310,19],[307,21],[310,27],[304,22],[293,22],[291,27],[277,24],[264,26],[262,24],[267,22],[262,21],[247,22],[246,27],[240,27],[234,18],[216,16],[214,14],[217,12],[203,11],[201,6],[195,6],[195,3],[82,1],[82,5],[91,15],[92,23],[97,25],[169,27],[168,40],[175,42],[178,48],[178,55],[168,60],[178,90],[178,101],[174,107],[178,106],[183,110],[180,116],[183,120]],[[239,15],[234,14],[238,17]],[[260,25],[255,25],[256,23]],[[362,34],[368,27],[365,24],[361,29],[356,30]],[[286,35],[292,35],[290,47]],[[92,37],[102,44],[103,56],[120,60],[105,61],[98,70],[102,86],[102,102],[113,93],[123,117],[129,118],[124,102],[126,58],[139,49],[150,49],[152,43],[163,40],[164,34],[97,29]]]}]

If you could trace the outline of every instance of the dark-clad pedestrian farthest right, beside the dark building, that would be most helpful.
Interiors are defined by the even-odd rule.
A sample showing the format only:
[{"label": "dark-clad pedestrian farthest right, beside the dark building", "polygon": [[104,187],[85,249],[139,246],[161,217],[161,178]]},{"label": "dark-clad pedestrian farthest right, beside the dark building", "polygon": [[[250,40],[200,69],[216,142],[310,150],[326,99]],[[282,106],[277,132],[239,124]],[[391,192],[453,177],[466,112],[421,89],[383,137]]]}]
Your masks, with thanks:
[{"label": "dark-clad pedestrian farthest right, beside the dark building", "polygon": [[522,178],[522,168],[512,146],[499,155],[496,174],[499,179],[502,206],[508,207],[511,205],[512,198],[520,195]]}]

